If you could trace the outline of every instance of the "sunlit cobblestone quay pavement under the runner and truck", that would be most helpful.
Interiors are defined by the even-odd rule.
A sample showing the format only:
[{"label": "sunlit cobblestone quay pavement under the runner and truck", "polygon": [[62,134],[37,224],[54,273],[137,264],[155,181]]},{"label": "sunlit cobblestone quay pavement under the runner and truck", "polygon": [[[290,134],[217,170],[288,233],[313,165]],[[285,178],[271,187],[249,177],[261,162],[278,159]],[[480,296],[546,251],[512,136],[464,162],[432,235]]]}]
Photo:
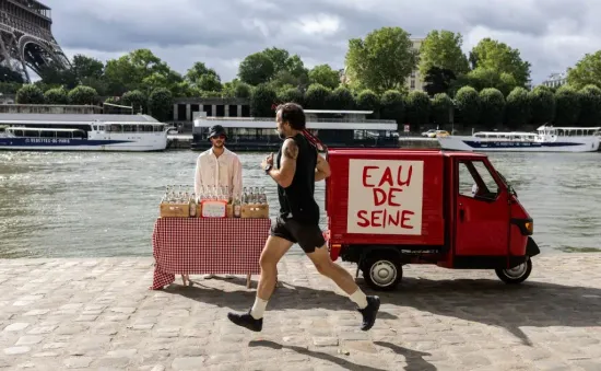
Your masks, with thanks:
[{"label": "sunlit cobblestone quay pavement under the runner and truck", "polygon": [[226,320],[252,304],[256,283],[192,276],[193,287],[178,277],[151,291],[152,263],[0,260],[0,369],[601,370],[601,254],[535,257],[517,287],[406,266],[367,333],[305,256],[282,260],[261,334]]}]

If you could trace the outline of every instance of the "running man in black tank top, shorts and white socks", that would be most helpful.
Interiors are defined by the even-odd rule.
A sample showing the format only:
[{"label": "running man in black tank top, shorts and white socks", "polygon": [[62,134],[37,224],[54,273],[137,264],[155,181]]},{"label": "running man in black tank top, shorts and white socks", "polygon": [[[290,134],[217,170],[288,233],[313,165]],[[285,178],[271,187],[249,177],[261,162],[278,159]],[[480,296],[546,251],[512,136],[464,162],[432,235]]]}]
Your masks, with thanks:
[{"label": "running man in black tank top, shorts and white socks", "polygon": [[315,182],[330,176],[329,164],[303,135],[306,119],[299,105],[283,104],[278,107],[275,117],[280,139],[284,140],[275,159],[278,167],[272,167],[272,154],[263,160],[261,167],[278,183],[280,216],[261,253],[261,277],[255,304],[246,313],[228,313],[227,317],[250,331],[262,329],[263,312],[275,285],[278,262],[294,243],[298,243],[317,270],[333,280],[356,303],[363,315],[361,329],[368,331],[376,321],[380,300],[378,297],[366,297],[353,276],[331,260],[319,229]]}]

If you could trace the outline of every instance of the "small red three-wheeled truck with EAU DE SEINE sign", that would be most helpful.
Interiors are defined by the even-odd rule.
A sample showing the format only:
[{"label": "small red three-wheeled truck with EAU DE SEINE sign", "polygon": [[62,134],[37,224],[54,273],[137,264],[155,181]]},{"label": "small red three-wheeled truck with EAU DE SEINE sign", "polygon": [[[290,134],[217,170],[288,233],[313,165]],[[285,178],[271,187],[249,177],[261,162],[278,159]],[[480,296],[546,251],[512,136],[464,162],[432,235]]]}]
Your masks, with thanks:
[{"label": "small red three-wheeled truck with EAU DE SEINE sign", "polygon": [[374,289],[393,290],[405,264],[494,269],[507,283],[530,275],[532,218],[485,154],[329,149],[328,161],[330,256]]}]

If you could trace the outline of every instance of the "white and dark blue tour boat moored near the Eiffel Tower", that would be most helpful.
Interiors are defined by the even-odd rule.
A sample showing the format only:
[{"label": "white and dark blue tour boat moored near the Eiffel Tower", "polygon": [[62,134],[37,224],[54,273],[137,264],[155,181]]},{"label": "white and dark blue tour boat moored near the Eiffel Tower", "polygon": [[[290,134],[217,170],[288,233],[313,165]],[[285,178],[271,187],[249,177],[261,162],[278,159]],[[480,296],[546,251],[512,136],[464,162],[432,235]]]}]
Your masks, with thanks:
[{"label": "white and dark blue tour boat moored near the Eiffel Tower", "polygon": [[173,129],[146,115],[0,114],[0,150],[26,151],[163,151]]}]

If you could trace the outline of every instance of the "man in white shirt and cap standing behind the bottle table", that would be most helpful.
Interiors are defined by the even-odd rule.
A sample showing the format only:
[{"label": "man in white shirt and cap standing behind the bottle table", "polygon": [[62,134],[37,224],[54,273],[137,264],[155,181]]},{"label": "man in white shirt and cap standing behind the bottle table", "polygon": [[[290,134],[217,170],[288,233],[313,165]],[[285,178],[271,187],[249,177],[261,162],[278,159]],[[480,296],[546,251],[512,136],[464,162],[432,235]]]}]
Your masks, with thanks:
[{"label": "man in white shirt and cap standing behind the bottle table", "polygon": [[[241,195],[243,166],[238,155],[225,148],[227,136],[221,125],[212,126],[209,130],[211,149],[200,153],[197,160],[195,174],[195,193],[200,197],[202,187],[226,187],[231,195]],[[229,278],[231,276],[226,276]],[[213,278],[207,275],[204,278]]]}]

